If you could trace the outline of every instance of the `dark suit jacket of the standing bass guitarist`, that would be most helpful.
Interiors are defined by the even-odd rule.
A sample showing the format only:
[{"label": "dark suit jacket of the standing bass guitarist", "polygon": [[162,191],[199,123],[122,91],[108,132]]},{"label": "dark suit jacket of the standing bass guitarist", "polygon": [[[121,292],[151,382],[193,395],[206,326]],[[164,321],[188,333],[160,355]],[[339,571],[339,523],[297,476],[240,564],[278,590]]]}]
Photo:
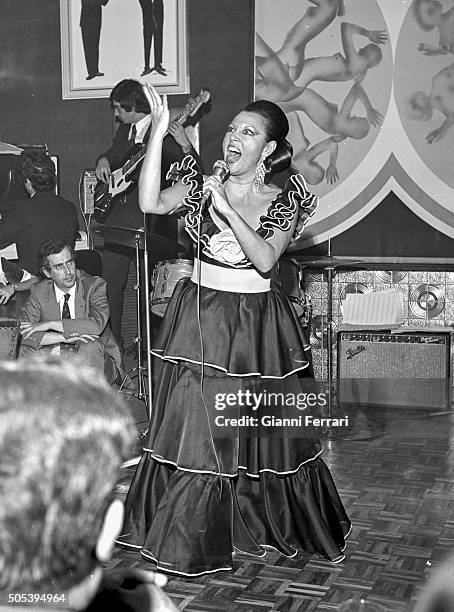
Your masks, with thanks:
[{"label": "dark suit jacket of the standing bass guitarist", "polygon": [[[100,156],[107,157],[113,170],[122,165],[129,150],[128,136],[130,127],[126,123],[120,124],[112,146]],[[145,134],[144,142],[148,142],[149,132],[150,129]],[[191,151],[191,155],[199,159],[195,150]],[[166,174],[174,162],[181,161],[184,157],[185,154],[175,139],[170,135],[166,136],[162,143],[161,189],[170,187],[171,183],[166,181]],[[143,212],[139,208],[139,190],[137,184],[130,188],[124,199],[124,203],[117,201],[106,223],[120,227],[142,227]],[[161,236],[176,239],[176,219],[173,216],[152,214],[149,220],[149,230]]]}]

